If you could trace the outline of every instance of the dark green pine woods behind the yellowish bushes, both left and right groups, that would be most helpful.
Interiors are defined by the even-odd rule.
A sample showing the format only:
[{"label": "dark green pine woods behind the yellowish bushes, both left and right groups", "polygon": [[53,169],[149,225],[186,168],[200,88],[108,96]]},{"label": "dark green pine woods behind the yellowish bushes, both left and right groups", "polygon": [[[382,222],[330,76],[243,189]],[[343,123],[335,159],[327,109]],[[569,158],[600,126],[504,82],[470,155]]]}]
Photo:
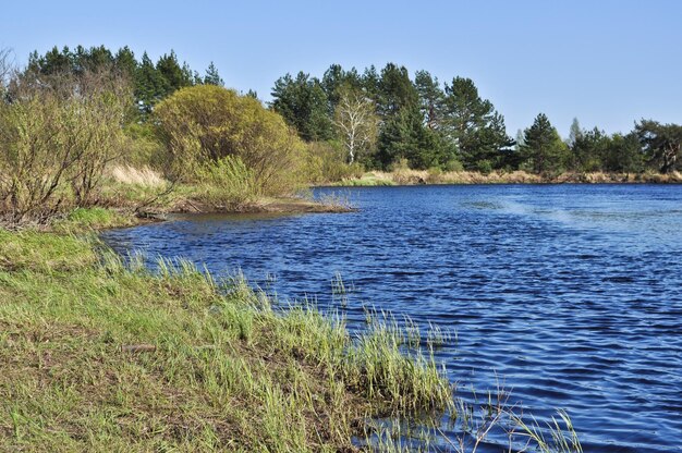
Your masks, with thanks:
[{"label": "dark green pine woods behind the yellowish bushes, both left and right groups", "polygon": [[[129,47],[115,52],[103,46],[35,51],[21,76],[49,86],[63,74],[77,78],[98,71],[113,71],[130,81],[141,122],[180,89],[224,86],[214,62],[200,76],[173,50],[154,61],[146,52],[137,58]],[[3,89],[10,89],[7,83]],[[246,97],[257,99],[253,90]],[[562,140],[549,119],[539,114],[512,139],[504,117],[471,78],[454,76],[441,83],[428,71],[411,74],[392,62],[364,70],[331,64],[321,77],[304,71],[285,74],[275,82],[268,107],[303,140],[344,148],[349,162],[367,169],[406,163],[414,169],[483,172],[670,173],[681,168],[678,124],[642,120],[631,132],[609,135],[596,126],[583,128],[575,119]]]}]

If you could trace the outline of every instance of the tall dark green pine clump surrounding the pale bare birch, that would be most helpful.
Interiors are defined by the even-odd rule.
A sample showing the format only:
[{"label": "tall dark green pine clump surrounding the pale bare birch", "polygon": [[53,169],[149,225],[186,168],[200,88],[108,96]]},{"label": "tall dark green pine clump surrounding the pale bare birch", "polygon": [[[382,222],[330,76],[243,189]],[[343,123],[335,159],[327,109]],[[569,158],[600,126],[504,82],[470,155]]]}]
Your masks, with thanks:
[{"label": "tall dark green pine clump surrounding the pale bare birch", "polygon": [[[370,66],[362,75],[355,69],[344,71],[332,64],[321,82],[305,73],[295,79],[289,74],[278,79],[272,108],[306,140],[329,136],[320,131],[327,131],[326,122],[333,119],[337,138],[349,147],[348,127],[338,126],[340,107],[349,93],[374,103],[379,124],[377,146],[360,158],[368,168],[386,169],[400,159],[407,159],[415,169],[443,168],[458,156],[471,168],[479,160],[498,164],[500,149],[511,144],[502,117],[478,97],[470,79],[456,77],[448,89],[446,96],[438,79],[426,71],[418,71],[413,82],[404,66],[393,63],[380,74]],[[349,155],[355,159],[351,148]]]}]

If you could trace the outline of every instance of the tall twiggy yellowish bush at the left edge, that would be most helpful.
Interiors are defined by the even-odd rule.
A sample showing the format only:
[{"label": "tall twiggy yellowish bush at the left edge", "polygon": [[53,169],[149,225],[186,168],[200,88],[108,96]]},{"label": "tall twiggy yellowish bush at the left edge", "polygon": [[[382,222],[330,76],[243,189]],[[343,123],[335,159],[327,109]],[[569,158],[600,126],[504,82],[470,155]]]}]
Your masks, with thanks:
[{"label": "tall twiggy yellowish bush at the left edge", "polygon": [[0,102],[0,215],[45,221],[93,201],[121,149],[127,86],[100,74],[52,84],[14,81]]}]

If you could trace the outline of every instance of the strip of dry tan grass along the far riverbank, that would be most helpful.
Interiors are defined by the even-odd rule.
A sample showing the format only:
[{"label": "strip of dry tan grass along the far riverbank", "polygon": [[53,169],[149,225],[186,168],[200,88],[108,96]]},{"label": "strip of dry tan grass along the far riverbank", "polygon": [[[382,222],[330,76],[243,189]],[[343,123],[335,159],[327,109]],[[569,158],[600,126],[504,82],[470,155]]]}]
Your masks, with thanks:
[{"label": "strip of dry tan grass along the far riverbank", "polygon": [[471,171],[441,172],[429,170],[397,170],[393,172],[372,171],[361,177],[346,179],[332,186],[382,186],[382,185],[421,185],[421,184],[680,184],[682,174],[660,173],[560,173],[539,175],[524,171],[499,172],[488,174]]}]

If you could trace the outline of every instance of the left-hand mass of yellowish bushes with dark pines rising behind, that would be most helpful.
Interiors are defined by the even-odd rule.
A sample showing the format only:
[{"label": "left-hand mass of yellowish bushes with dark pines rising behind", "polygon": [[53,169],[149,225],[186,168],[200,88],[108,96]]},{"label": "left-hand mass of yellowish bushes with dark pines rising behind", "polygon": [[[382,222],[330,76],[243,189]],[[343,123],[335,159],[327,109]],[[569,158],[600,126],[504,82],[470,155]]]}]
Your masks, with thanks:
[{"label": "left-hand mass of yellowish bushes with dark pines rising behind", "polygon": [[[171,203],[233,210],[292,195],[343,161],[306,145],[254,94],[221,86],[212,65],[199,77],[172,51],[153,64],[127,48],[52,49],[23,69],[8,56],[0,49],[0,222],[137,210],[171,192]],[[117,169],[130,166],[161,184],[121,186]]]}]

